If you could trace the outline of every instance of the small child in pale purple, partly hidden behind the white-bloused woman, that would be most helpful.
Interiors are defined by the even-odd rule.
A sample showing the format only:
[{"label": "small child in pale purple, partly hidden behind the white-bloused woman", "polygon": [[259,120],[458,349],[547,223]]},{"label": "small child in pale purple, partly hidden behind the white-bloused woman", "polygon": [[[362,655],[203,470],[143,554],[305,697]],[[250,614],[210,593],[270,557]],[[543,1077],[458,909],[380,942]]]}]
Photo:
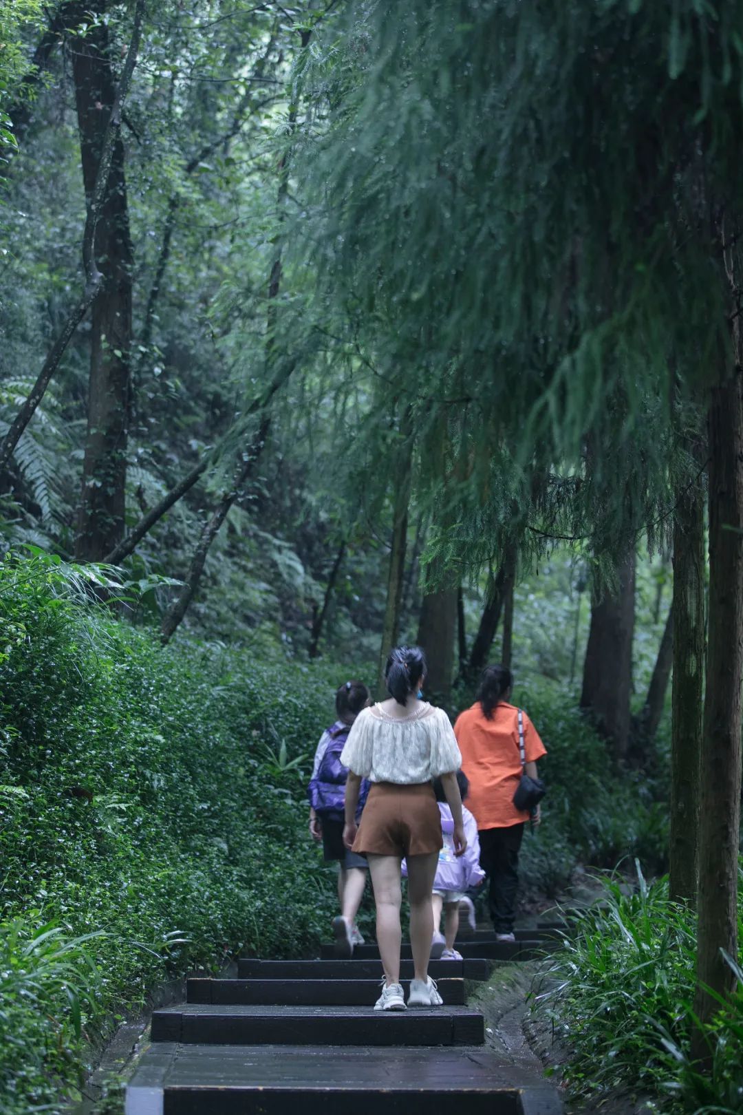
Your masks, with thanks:
[{"label": "small child in pale purple, partly hidden behind the white-bloused woman", "polygon": [[[467,775],[457,772],[457,782],[462,802],[469,791]],[[465,898],[465,891],[470,886],[479,886],[485,879],[480,866],[480,842],[477,834],[477,821],[468,808],[462,805],[467,851],[462,856],[454,855],[451,834],[454,822],[451,809],[447,805],[440,779],[433,779],[433,792],[439,803],[441,814],[441,833],[443,847],[439,852],[439,866],[433,880],[433,944],[431,957],[439,956],[441,960],[461,960],[461,953],[454,949],[454,940],[459,931],[459,903]],[[441,911],[443,910],[443,933],[440,931]]]}]

